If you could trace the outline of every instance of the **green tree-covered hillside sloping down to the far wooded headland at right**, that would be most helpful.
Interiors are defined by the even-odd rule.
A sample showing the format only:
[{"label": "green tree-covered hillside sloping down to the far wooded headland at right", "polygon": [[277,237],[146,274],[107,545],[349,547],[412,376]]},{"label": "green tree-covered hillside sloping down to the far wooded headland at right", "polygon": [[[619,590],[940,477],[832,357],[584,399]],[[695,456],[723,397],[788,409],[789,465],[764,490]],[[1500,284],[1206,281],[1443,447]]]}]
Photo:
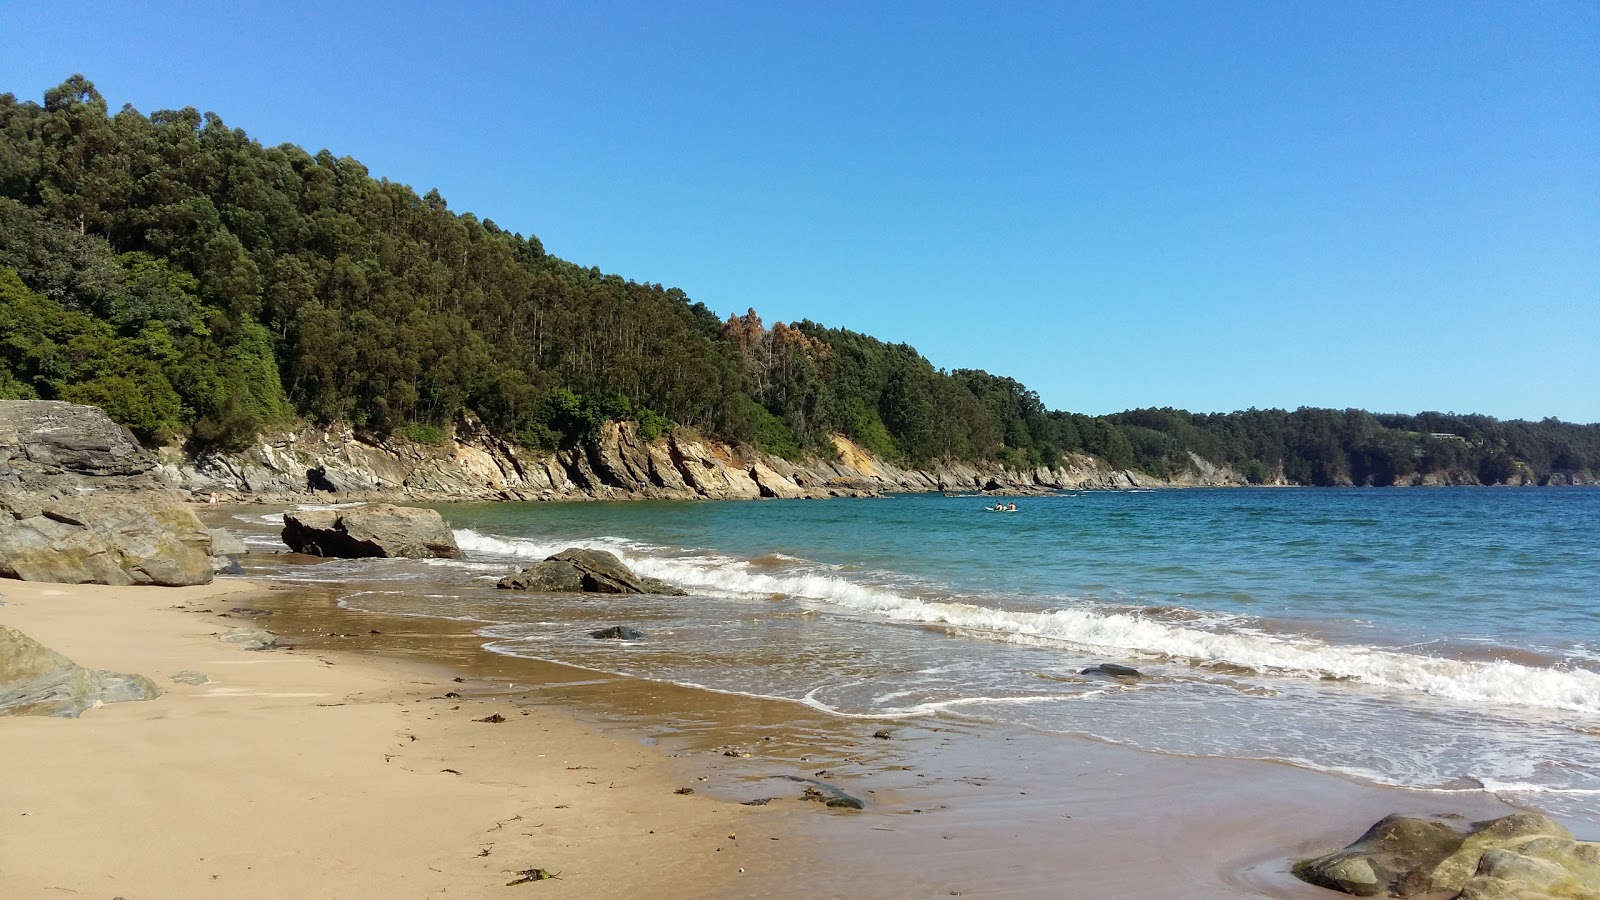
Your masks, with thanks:
[{"label": "green tree-covered hillside sloping down to the far wooded headland at right", "polygon": [[902,464],[1090,453],[1254,484],[1573,484],[1600,424],[1299,408],[1086,416],[1024,384],[810,320],[723,320],[682,290],[544,251],[328,151],[192,107],[109,114],[75,75],[0,94],[0,399],[102,407],[149,444],[237,450],[341,421],[437,440],[462,416],[528,448],[634,420],[784,458],[843,434]]}]

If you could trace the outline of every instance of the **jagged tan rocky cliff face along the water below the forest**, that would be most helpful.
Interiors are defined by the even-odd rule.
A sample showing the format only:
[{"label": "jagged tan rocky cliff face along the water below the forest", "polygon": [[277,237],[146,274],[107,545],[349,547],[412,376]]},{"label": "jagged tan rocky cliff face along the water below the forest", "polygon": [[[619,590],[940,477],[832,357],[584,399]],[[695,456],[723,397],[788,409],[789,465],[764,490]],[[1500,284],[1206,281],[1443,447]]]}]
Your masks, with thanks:
[{"label": "jagged tan rocky cliff face along the water below the forest", "polygon": [[834,437],[835,460],[781,460],[677,429],[645,440],[630,421],[558,453],[531,453],[466,421],[442,444],[358,434],[349,428],[264,436],[230,456],[190,460],[165,452],[157,469],[170,485],[230,500],[334,493],[349,500],[755,500],[874,496],[885,492],[1006,492],[1245,484],[1232,469],[1197,458],[1192,472],[1165,482],[1114,471],[1088,455],[1059,468],[1006,471],[946,464],[901,469]]}]

